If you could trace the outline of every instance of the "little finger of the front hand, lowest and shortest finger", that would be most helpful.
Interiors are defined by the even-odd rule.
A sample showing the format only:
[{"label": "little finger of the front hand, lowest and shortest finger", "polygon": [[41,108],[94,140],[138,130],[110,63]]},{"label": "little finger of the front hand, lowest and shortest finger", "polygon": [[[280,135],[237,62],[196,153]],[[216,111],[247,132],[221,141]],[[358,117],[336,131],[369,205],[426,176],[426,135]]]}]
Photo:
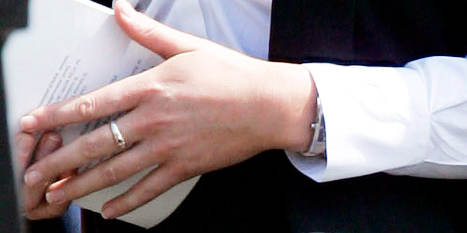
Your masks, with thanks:
[{"label": "little finger of the front hand, lowest and shortest finger", "polygon": [[161,164],[151,171],[127,192],[108,201],[102,207],[105,219],[114,219],[142,206],[167,191],[173,185],[185,180],[177,170],[168,164]]}]

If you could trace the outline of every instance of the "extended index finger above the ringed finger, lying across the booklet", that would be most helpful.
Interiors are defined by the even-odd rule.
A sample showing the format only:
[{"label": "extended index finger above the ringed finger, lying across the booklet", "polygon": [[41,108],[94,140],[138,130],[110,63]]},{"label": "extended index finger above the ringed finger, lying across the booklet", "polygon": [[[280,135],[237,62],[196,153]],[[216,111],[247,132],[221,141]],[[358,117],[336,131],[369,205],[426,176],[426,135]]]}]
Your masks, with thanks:
[{"label": "extended index finger above the ringed finger, lying across the booklet", "polygon": [[[130,83],[131,82],[131,83]],[[134,78],[129,77],[63,102],[40,107],[21,118],[21,130],[36,132],[85,122],[131,110],[141,99]]]}]

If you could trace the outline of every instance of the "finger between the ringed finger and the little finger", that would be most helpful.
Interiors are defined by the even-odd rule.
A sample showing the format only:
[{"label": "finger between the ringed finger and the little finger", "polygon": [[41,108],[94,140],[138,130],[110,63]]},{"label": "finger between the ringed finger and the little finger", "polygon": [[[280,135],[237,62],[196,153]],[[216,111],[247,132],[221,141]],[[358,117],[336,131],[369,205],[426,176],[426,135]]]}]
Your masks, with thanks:
[{"label": "finger between the ringed finger and the little finger", "polygon": [[149,144],[149,142],[137,144],[131,150],[124,151],[79,176],[50,185],[46,195],[47,201],[57,205],[83,197],[115,185],[152,164],[160,163],[161,157],[152,156],[154,152]]}]

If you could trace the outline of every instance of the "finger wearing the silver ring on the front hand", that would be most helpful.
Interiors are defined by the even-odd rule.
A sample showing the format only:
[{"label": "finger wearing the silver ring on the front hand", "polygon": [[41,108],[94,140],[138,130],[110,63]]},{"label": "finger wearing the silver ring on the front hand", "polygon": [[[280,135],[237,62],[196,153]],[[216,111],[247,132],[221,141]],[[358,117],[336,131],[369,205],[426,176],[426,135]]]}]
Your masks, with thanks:
[{"label": "finger wearing the silver ring on the front hand", "polygon": [[[133,115],[127,114],[117,121],[127,144],[142,137],[133,131]],[[50,178],[57,178],[67,171],[74,171],[86,164],[112,155],[119,149],[108,124],[85,134],[30,166],[24,176],[27,186],[40,186]]]}]

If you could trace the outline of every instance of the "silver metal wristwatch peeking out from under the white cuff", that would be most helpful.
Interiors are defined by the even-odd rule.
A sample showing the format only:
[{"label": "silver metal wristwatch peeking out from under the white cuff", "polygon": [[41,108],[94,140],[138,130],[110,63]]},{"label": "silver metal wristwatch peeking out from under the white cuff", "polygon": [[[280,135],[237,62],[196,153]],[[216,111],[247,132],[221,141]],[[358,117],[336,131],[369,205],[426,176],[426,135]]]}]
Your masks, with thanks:
[{"label": "silver metal wristwatch peeking out from under the white cuff", "polygon": [[301,154],[303,156],[324,156],[326,151],[326,130],[323,109],[321,107],[321,100],[319,99],[318,94],[316,96],[316,118],[314,122],[311,123],[311,129],[313,129],[314,132],[310,149],[306,152],[302,152]]}]

